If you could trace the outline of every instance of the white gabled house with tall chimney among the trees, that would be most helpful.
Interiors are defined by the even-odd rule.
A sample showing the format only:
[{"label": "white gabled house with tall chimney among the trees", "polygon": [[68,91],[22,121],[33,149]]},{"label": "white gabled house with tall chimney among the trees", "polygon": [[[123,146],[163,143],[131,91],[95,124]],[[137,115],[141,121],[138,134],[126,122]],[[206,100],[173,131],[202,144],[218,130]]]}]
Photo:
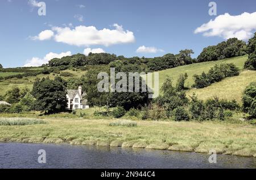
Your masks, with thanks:
[{"label": "white gabled house with tall chimney among the trees", "polygon": [[82,92],[82,86],[79,89],[68,89],[67,99],[68,99],[68,109],[87,109],[89,108],[87,104],[87,99],[84,99],[85,93]]}]

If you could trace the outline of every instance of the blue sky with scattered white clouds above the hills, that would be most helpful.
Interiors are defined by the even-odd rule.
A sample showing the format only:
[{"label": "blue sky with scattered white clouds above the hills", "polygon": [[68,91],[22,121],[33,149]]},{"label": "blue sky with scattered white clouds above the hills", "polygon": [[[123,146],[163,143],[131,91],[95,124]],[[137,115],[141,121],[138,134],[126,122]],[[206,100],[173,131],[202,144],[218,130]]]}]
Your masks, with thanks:
[{"label": "blue sky with scattered white clouds above the hills", "polygon": [[126,57],[193,49],[196,57],[208,45],[232,36],[246,41],[256,31],[255,0],[215,0],[217,16],[209,15],[205,0],[44,0],[46,16],[38,15],[38,2],[1,0],[0,64],[5,68],[90,49]]}]

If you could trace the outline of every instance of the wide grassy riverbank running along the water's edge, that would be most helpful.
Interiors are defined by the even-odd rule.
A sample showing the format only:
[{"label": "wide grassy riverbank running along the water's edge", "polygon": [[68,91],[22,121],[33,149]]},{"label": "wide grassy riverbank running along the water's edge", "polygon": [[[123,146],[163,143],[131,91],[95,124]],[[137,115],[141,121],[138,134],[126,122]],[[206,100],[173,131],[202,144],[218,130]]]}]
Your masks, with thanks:
[{"label": "wide grassy riverbank running along the water's edge", "polygon": [[227,122],[147,122],[110,126],[117,120],[46,118],[46,124],[0,126],[1,142],[123,146],[256,157],[256,127]]}]

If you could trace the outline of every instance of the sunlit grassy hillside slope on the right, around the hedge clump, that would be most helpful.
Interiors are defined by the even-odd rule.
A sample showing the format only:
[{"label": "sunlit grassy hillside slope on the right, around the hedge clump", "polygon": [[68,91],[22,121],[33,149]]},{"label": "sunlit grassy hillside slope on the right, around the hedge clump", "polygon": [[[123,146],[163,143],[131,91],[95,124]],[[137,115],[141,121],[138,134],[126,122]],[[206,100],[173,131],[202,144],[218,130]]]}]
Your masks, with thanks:
[{"label": "sunlit grassy hillside slope on the right, around the hedge clump", "polygon": [[[199,64],[191,64],[186,66],[180,66],[177,68],[166,69],[159,72],[159,86],[161,87],[167,76],[171,77],[176,84],[177,78],[180,74],[187,73],[188,79],[185,82],[185,86],[191,87],[193,85],[193,75],[208,72],[208,70],[215,64],[231,63],[233,62],[238,68],[243,69],[243,65],[247,60],[247,56],[228,58],[220,61],[202,62]],[[209,87],[204,89],[191,89],[187,91],[188,95],[196,93],[201,99],[208,99],[213,96],[226,99],[236,99],[241,102],[242,91],[250,82],[256,81],[256,71],[242,70],[240,76],[226,78],[221,82],[213,83]]]}]

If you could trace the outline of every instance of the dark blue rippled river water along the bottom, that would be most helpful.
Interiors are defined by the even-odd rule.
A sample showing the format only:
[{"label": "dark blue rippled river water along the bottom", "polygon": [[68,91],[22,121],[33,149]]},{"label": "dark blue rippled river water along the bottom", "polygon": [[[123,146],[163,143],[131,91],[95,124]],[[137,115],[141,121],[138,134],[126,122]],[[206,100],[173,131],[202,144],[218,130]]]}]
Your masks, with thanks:
[{"label": "dark blue rippled river water along the bottom", "polygon": [[[46,150],[46,164],[38,163],[38,150]],[[164,150],[0,143],[0,168],[256,168],[256,158],[217,156]]]}]

